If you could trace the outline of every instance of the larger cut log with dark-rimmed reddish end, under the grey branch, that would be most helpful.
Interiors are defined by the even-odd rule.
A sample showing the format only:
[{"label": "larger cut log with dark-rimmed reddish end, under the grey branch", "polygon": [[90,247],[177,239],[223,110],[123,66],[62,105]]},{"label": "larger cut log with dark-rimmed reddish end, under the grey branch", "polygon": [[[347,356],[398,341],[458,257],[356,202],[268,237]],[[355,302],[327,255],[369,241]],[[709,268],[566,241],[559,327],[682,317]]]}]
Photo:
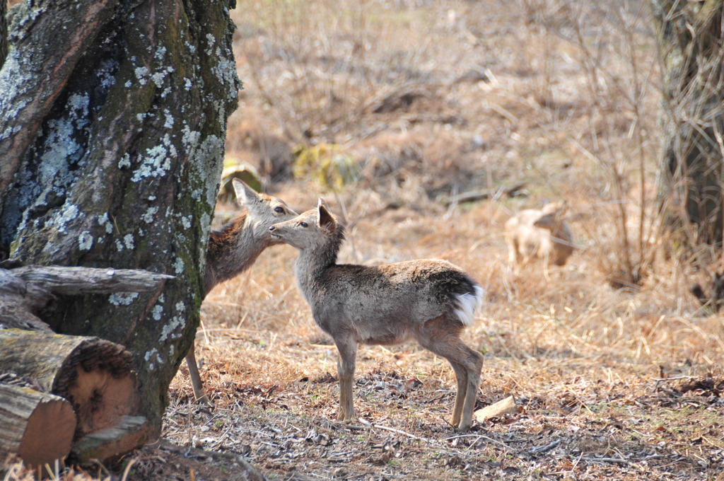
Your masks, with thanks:
[{"label": "larger cut log with dark-rimmed reddish end, under the grey branch", "polygon": [[99,338],[0,330],[0,372],[37,380],[66,398],[77,414],[75,439],[117,425],[135,414],[138,391],[132,355]]}]

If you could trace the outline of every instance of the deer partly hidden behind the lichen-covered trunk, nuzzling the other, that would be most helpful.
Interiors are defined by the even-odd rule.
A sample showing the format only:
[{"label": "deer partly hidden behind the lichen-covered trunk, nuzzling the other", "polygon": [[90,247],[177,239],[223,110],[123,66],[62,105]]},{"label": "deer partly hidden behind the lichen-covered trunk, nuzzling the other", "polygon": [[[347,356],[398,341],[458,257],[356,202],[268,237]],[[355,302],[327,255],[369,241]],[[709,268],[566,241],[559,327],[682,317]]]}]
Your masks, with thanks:
[{"label": "deer partly hidden behind the lichen-covered trunk, nuzzling the other", "polygon": [[[206,271],[203,275],[204,295],[216,284],[251,267],[265,248],[280,243],[269,236],[269,227],[272,224],[297,216],[282,199],[256,193],[241,180],[234,179],[232,183],[237,201],[246,207],[246,210],[221,230],[211,233],[209,248],[206,250]],[[209,398],[203,393],[193,344],[186,355],[186,364],[196,401],[209,403]]]}]

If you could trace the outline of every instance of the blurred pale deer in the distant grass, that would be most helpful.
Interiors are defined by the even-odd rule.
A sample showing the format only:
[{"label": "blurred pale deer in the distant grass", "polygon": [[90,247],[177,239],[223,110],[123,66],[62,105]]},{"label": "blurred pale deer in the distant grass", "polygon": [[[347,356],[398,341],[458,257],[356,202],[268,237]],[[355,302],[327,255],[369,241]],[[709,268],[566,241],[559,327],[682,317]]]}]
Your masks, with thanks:
[{"label": "blurred pale deer in the distant grass", "polygon": [[547,204],[543,209],[526,209],[505,222],[510,264],[515,272],[525,267],[532,256],[543,259],[547,280],[548,264],[562,266],[573,253],[573,235],[563,220],[565,201]]}]

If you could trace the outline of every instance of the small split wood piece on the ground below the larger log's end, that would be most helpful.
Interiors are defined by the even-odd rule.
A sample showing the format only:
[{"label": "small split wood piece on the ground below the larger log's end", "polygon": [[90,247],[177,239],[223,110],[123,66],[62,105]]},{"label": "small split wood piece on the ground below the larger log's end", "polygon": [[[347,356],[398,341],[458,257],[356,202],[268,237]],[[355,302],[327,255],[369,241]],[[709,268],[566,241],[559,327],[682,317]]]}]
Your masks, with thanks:
[{"label": "small split wood piece on the ground below the larger log's end", "polygon": [[71,447],[72,459],[83,463],[90,459],[112,459],[145,444],[151,425],[142,416],[124,416],[117,426],[91,432]]}]

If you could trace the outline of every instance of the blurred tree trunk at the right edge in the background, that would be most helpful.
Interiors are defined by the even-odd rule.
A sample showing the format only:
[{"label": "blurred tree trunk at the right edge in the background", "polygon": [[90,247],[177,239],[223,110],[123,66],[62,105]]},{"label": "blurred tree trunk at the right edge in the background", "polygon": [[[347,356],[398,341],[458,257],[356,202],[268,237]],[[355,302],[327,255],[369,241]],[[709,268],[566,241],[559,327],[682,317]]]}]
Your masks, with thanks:
[{"label": "blurred tree trunk at the right edge in the background", "polygon": [[660,202],[693,245],[724,235],[724,0],[651,0],[664,75]]}]

